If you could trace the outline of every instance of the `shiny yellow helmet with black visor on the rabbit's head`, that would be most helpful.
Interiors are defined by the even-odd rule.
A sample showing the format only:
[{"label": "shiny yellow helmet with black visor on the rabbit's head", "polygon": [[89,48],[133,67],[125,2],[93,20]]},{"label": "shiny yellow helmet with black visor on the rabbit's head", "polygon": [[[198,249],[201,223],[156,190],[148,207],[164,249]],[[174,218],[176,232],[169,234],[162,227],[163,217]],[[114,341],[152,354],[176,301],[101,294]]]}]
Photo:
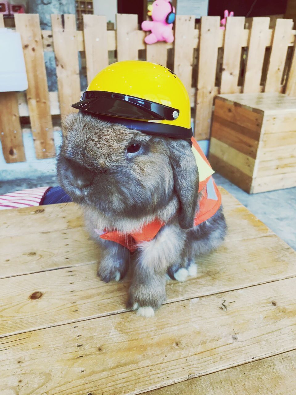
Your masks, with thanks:
[{"label": "shiny yellow helmet with black visor on the rabbit's head", "polygon": [[146,134],[190,140],[190,101],[168,68],[142,60],[116,62],[100,71],[72,107]]}]

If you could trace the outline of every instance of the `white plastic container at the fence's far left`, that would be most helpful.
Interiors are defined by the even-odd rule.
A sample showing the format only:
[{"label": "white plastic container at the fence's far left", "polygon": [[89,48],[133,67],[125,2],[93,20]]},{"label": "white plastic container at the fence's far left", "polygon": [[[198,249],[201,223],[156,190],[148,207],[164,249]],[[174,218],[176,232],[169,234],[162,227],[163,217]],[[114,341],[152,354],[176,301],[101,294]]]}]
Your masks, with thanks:
[{"label": "white plastic container at the fence's far left", "polygon": [[0,28],[0,92],[16,92],[28,88],[28,79],[19,33]]}]

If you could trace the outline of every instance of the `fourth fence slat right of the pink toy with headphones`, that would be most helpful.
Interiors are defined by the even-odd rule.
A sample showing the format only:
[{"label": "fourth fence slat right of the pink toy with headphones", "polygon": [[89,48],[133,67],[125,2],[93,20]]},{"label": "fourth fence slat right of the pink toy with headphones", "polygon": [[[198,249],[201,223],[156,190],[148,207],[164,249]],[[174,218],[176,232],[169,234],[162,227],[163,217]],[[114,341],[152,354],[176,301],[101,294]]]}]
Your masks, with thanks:
[{"label": "fourth fence slat right of the pink toy with headphones", "polygon": [[242,92],[261,92],[260,80],[267,46],[270,18],[253,18],[247,43],[247,60]]}]

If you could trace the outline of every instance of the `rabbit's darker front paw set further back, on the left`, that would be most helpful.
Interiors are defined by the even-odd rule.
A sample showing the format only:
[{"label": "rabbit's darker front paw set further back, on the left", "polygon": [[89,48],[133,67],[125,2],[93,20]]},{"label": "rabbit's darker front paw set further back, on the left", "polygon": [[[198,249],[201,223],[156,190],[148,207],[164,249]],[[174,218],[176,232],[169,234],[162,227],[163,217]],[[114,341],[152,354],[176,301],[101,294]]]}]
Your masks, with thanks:
[{"label": "rabbit's darker front paw set further back, on the left", "polygon": [[104,282],[119,281],[124,278],[126,272],[126,262],[113,256],[105,256],[97,268],[97,275]]}]

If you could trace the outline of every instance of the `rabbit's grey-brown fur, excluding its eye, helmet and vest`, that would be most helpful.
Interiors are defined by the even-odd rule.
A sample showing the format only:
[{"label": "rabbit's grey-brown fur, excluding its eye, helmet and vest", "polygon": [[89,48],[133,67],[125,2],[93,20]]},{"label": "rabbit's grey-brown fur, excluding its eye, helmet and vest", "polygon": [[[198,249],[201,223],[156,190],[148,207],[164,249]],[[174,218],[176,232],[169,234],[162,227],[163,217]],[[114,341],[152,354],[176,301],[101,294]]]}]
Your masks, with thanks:
[{"label": "rabbit's grey-brown fur, excluding its eye, helmet and vest", "polygon": [[[84,209],[86,227],[102,246],[98,275],[105,282],[118,280],[131,265],[129,305],[139,312],[159,307],[165,300],[166,273],[174,278],[196,254],[217,248],[226,232],[222,209],[193,228],[199,175],[190,145],[83,114],[69,115],[63,127],[58,177]],[[141,150],[130,154],[127,147],[134,143]],[[131,255],[94,231],[131,233],[155,218],[166,225]]]}]

